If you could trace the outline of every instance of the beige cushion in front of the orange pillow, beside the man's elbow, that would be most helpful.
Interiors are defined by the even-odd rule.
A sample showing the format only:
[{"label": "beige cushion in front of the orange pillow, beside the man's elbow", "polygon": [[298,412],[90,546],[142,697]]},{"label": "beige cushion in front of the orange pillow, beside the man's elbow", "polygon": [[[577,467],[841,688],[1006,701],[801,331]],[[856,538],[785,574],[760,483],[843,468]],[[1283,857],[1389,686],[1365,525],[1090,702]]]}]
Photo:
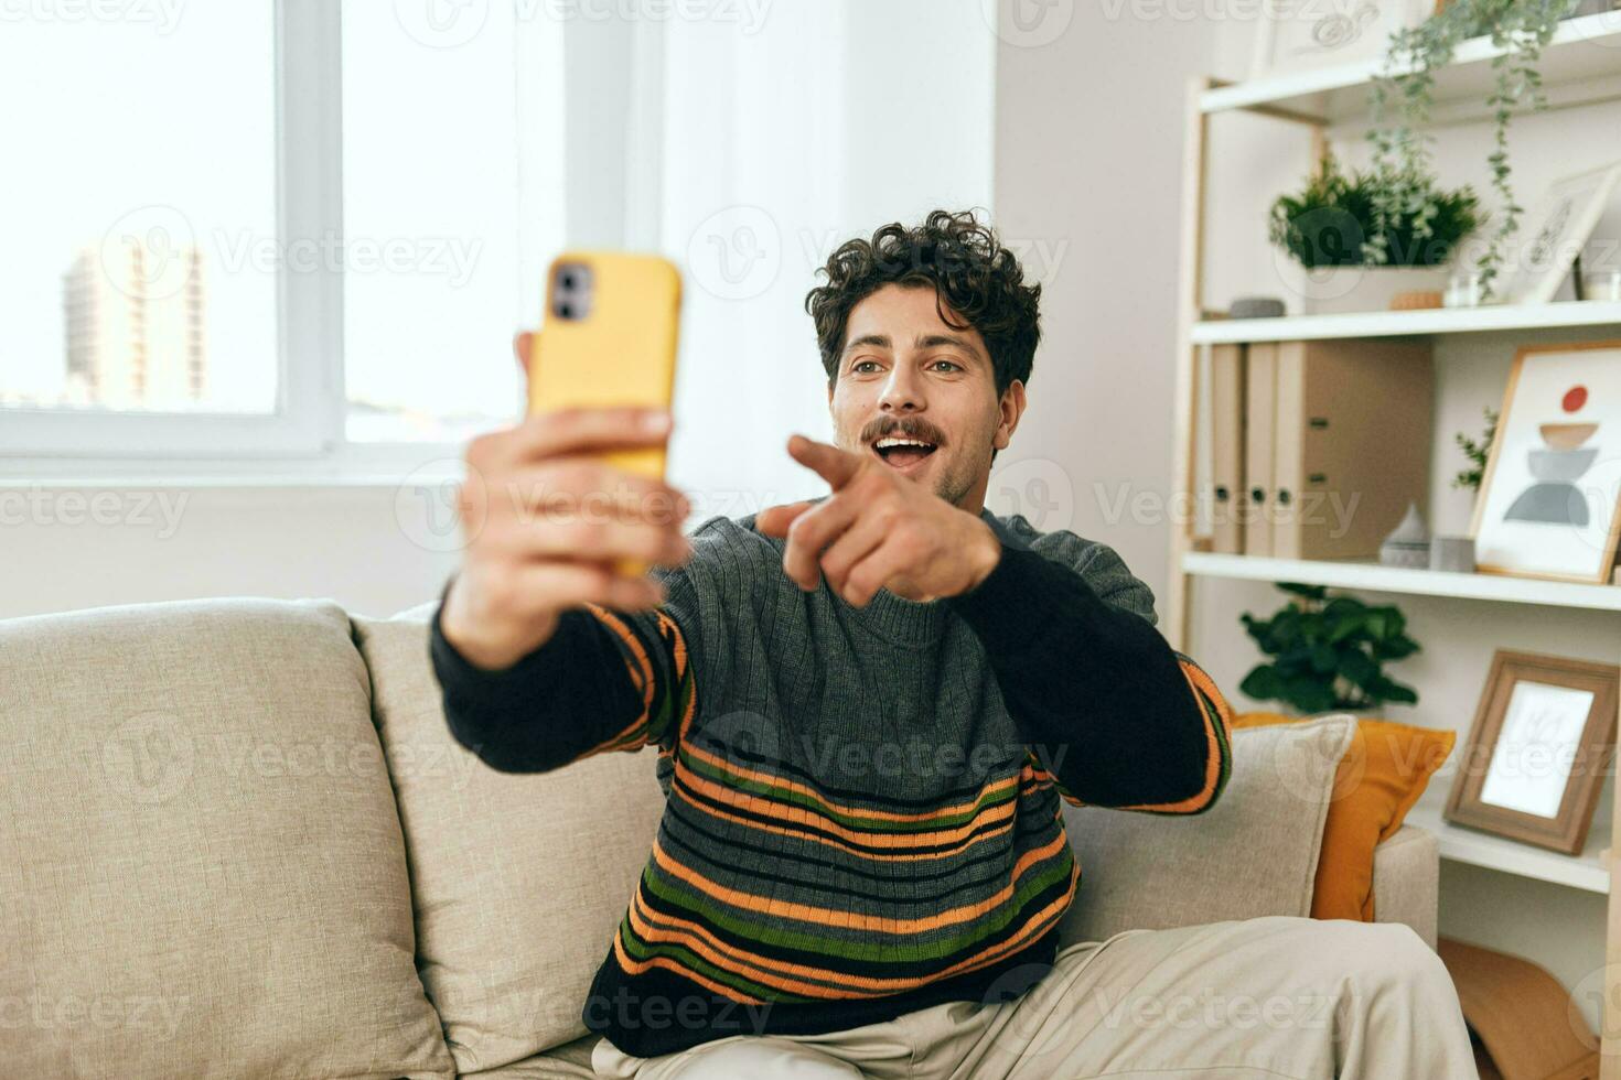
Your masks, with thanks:
[{"label": "beige cushion in front of the orange pillow, beside the man's elbow", "polygon": [[1232,777],[1201,814],[1065,805],[1081,887],[1060,941],[1310,915],[1323,821],[1354,732],[1349,716],[1235,730]]}]

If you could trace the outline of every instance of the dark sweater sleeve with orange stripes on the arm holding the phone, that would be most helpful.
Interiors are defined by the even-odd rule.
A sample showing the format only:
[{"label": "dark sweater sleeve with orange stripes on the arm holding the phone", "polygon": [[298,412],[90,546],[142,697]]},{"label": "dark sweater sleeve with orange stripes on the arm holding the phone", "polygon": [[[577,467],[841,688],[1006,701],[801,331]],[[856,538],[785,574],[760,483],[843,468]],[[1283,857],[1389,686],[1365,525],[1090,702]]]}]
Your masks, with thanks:
[{"label": "dark sweater sleeve with orange stripes on the arm holding the phone", "polygon": [[444,636],[434,612],[433,670],[451,733],[501,772],[548,772],[608,750],[671,745],[694,708],[676,620],[588,604],[517,664],[486,670]]}]

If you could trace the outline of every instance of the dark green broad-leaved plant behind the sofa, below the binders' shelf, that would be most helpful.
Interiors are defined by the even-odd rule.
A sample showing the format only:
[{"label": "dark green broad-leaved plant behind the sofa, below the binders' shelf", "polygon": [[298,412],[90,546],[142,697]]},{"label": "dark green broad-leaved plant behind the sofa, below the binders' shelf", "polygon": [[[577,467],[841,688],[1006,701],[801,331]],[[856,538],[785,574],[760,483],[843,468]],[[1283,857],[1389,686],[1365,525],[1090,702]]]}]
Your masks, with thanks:
[{"label": "dark green broad-leaved plant behind the sofa, below the binders' shelf", "polygon": [[1272,659],[1253,667],[1238,690],[1256,701],[1279,701],[1300,716],[1418,701],[1412,687],[1384,674],[1388,661],[1418,651],[1399,609],[1328,596],[1321,585],[1279,581],[1277,588],[1294,599],[1271,619],[1242,615],[1245,631]]}]

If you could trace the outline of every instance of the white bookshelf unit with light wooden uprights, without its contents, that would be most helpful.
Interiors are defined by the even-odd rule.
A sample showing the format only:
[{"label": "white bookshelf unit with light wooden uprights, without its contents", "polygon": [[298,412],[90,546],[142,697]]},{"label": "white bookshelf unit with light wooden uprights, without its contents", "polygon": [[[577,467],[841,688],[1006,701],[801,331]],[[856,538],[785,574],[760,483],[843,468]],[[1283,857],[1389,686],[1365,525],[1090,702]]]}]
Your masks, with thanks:
[{"label": "white bookshelf unit with light wooden uprights, without its contents", "polygon": [[[1491,60],[1498,50],[1490,40],[1459,47],[1456,62],[1436,73],[1433,117],[1438,123],[1477,120],[1486,115],[1485,99],[1493,83]],[[1555,108],[1597,100],[1621,100],[1621,11],[1566,21],[1543,53],[1542,71]],[[1499,334],[1520,330],[1592,329],[1593,335],[1621,337],[1621,303],[1555,303],[1538,306],[1485,306],[1438,311],[1376,311],[1331,316],[1289,316],[1279,319],[1206,319],[1203,266],[1206,259],[1206,178],[1209,165],[1211,118],[1230,110],[1248,110],[1289,125],[1308,125],[1311,154],[1323,152],[1331,138],[1362,138],[1368,117],[1376,63],[1344,65],[1290,73],[1247,83],[1196,79],[1188,94],[1187,146],[1183,160],[1182,244],[1178,254],[1178,335],[1174,458],[1174,492],[1195,499],[1198,416],[1198,356],[1208,345],[1292,340],[1345,340],[1379,337],[1444,338],[1448,335]],[[1533,121],[1522,117],[1520,121]],[[1444,573],[1402,570],[1370,560],[1310,562],[1225,555],[1198,551],[1193,521],[1172,529],[1170,583],[1162,628],[1170,643],[1188,643],[1196,578],[1250,581],[1300,581],[1342,589],[1433,596],[1448,601],[1532,604],[1553,609],[1621,612],[1621,586],[1545,581],[1490,573]],[[1467,709],[1475,703],[1469,701]],[[1441,814],[1444,792],[1430,790],[1407,821],[1435,834],[1441,858],[1482,866],[1503,874],[1543,881],[1589,894],[1608,895],[1605,923],[1602,1052],[1603,1080],[1621,1080],[1621,882],[1615,861],[1606,857],[1611,837],[1621,836],[1621,800],[1610,798],[1593,818],[1585,850],[1559,855],[1448,823]]]}]

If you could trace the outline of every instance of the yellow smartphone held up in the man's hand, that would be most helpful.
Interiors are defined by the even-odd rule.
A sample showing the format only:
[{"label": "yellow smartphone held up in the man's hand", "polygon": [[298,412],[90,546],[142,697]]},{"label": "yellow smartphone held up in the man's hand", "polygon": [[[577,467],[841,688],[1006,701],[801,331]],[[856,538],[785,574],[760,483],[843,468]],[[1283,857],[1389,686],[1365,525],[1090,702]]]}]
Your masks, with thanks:
[{"label": "yellow smartphone held up in the man's hand", "polygon": [[[681,274],[658,256],[571,251],[546,275],[546,314],[530,350],[528,411],[663,408],[676,390]],[[616,466],[665,478],[665,450],[616,450]],[[621,573],[645,565],[619,563]]]}]

